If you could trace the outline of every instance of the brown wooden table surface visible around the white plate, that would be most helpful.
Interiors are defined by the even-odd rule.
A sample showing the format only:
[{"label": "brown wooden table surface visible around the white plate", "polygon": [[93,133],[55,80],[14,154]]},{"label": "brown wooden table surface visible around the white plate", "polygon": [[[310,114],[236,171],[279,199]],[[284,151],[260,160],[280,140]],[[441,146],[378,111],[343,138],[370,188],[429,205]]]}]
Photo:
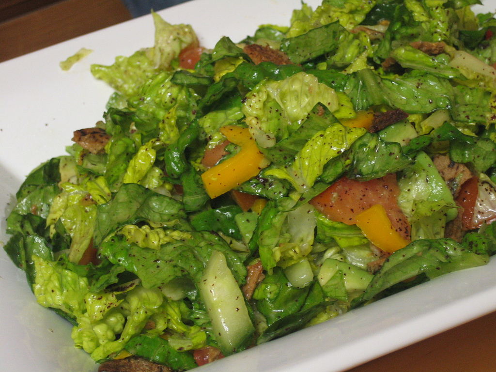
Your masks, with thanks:
[{"label": "brown wooden table surface visible around the white plate", "polygon": [[[130,18],[120,0],[58,1],[0,23],[0,62]],[[379,371],[496,372],[496,312],[349,372]]]}]

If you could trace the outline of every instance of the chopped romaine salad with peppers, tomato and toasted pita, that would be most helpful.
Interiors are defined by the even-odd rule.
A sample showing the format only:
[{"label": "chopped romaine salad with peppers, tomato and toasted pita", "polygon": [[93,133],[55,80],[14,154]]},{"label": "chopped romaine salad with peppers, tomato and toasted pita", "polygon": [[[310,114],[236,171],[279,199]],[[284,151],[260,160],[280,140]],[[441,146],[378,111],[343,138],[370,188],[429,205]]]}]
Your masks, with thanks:
[{"label": "chopped romaine salad with peppers, tomato and toasted pita", "polygon": [[323,1],[92,73],[103,120],[16,194],[4,248],[101,371],[192,369],[451,271],[495,231],[495,20]]}]

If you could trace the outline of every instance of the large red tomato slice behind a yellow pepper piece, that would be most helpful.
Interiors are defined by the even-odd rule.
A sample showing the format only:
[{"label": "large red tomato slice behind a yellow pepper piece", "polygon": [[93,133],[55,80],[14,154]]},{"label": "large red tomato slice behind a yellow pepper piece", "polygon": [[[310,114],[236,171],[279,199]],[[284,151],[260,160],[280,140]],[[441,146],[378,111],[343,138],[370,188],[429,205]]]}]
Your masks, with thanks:
[{"label": "large red tomato slice behind a yellow pepper piece", "polygon": [[360,213],[380,204],[394,229],[409,240],[410,224],[398,206],[398,195],[396,175],[363,182],[343,177],[310,200],[310,204],[329,219],[347,225],[356,224]]}]

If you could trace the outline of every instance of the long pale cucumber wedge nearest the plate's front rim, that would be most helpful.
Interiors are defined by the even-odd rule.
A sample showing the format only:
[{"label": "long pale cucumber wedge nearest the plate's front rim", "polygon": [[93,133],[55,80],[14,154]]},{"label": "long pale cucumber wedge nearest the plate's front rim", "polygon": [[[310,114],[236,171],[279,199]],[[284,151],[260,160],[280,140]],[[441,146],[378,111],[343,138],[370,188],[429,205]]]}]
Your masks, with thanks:
[{"label": "long pale cucumber wedge nearest the plate's front rim", "polygon": [[199,283],[199,292],[222,354],[227,356],[239,351],[251,339],[255,327],[245,297],[222,252],[212,252]]}]

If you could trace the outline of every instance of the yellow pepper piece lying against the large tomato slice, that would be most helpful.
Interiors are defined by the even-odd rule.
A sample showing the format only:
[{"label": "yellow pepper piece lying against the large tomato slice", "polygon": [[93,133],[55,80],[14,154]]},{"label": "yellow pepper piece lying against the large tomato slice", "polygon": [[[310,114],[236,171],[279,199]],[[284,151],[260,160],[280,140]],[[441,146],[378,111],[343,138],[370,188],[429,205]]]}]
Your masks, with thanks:
[{"label": "yellow pepper piece lying against the large tomato slice", "polygon": [[380,204],[366,209],[355,220],[367,239],[386,252],[393,253],[410,243],[393,228],[386,210]]}]

